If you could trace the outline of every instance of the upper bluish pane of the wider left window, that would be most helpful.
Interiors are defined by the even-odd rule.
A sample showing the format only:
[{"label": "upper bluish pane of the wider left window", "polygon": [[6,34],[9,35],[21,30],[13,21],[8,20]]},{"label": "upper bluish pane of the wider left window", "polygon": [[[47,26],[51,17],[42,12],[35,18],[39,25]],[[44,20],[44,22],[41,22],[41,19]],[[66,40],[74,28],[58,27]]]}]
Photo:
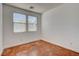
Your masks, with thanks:
[{"label": "upper bluish pane of the wider left window", "polygon": [[13,13],[13,22],[26,23],[26,15],[20,13]]}]

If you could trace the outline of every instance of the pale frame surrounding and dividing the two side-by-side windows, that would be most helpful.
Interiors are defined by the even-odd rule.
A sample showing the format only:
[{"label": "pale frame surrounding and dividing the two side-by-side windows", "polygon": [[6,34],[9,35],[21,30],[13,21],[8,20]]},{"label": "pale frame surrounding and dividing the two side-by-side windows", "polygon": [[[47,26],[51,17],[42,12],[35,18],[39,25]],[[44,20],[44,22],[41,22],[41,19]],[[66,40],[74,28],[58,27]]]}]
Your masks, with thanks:
[{"label": "pale frame surrounding and dividing the two side-by-side windows", "polygon": [[[23,14],[23,15],[25,15],[26,16],[26,23],[22,23],[22,24],[25,24],[25,26],[26,26],[26,29],[25,29],[25,31],[24,32],[14,32],[14,23],[20,23],[20,22],[13,22],[13,15],[12,15],[12,24],[13,24],[13,32],[14,33],[25,33],[25,32],[37,32],[38,31],[38,16],[36,16],[35,14],[33,15],[33,14],[26,14],[26,13],[22,13],[22,12],[13,12],[12,14],[14,14],[14,13],[18,13],[18,14]],[[28,16],[33,16],[33,17],[37,17],[37,24],[36,24],[36,31],[29,31],[28,30]]]}]

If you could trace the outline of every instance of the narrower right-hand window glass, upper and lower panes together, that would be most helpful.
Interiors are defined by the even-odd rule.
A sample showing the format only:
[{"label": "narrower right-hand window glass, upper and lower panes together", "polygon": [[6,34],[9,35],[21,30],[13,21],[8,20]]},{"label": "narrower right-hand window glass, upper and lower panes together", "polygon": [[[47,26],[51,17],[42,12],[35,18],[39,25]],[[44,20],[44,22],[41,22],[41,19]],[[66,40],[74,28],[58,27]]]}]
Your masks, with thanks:
[{"label": "narrower right-hand window glass, upper and lower panes together", "polygon": [[37,31],[37,17],[28,16],[28,31]]}]

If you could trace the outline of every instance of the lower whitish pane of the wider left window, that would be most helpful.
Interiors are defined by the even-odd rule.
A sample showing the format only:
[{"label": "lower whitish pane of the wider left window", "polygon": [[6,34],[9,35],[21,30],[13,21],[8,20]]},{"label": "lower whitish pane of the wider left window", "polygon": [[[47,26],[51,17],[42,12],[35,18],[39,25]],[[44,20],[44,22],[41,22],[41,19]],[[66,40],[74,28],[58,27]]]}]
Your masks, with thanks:
[{"label": "lower whitish pane of the wider left window", "polygon": [[25,32],[26,24],[14,23],[14,32]]}]

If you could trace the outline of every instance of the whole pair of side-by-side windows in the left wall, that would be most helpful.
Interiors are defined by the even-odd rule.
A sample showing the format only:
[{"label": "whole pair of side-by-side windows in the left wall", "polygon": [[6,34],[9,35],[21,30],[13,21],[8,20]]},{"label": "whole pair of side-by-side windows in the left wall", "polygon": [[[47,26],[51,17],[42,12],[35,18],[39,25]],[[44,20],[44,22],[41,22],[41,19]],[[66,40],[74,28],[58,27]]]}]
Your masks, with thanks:
[{"label": "whole pair of side-by-side windows in the left wall", "polygon": [[14,32],[37,31],[37,17],[13,13],[13,25]]}]

